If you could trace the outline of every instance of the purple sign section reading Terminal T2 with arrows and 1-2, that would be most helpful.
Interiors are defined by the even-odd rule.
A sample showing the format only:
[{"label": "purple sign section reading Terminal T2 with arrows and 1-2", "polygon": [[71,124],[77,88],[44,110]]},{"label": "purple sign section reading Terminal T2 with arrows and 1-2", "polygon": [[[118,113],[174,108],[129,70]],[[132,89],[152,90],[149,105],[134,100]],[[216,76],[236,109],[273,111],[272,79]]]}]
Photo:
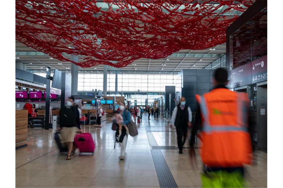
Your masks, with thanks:
[{"label": "purple sign section reading Terminal T2 with arrows and 1-2", "polygon": [[251,62],[252,83],[267,80],[267,55]]}]

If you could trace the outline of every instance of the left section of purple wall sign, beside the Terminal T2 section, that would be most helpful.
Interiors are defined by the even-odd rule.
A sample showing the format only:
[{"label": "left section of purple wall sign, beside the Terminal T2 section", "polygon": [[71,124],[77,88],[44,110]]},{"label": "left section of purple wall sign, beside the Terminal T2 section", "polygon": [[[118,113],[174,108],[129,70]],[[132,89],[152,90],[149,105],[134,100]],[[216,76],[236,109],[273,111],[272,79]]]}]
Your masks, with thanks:
[{"label": "left section of purple wall sign, beside the Terminal T2 section", "polygon": [[251,84],[251,63],[230,71],[230,88]]}]

